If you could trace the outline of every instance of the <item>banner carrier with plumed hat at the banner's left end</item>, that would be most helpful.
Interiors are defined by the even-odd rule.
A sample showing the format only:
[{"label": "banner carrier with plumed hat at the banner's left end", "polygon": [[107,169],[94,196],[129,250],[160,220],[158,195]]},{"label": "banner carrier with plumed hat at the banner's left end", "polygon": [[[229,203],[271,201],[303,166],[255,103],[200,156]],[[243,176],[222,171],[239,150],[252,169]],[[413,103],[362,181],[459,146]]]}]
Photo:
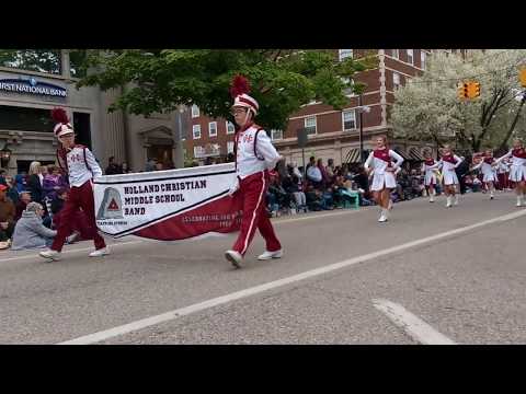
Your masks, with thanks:
[{"label": "banner carrier with plumed hat at the banner's left end", "polygon": [[107,255],[110,250],[106,247],[104,239],[96,232],[92,184],[94,177],[102,175],[102,170],[87,147],[75,143],[73,127],[69,123],[66,112],[62,108],[55,108],[52,111],[52,117],[57,121],[54,128],[55,137],[61,143],[57,150],[57,161],[60,167],[68,173],[71,188],[60,213],[61,220],[53,245],[48,251],[41,252],[39,255],[49,262],[60,258],[66,237],[71,233],[71,220],[79,207],[85,213],[90,233],[94,234],[95,251],[90,253],[90,257]]}]

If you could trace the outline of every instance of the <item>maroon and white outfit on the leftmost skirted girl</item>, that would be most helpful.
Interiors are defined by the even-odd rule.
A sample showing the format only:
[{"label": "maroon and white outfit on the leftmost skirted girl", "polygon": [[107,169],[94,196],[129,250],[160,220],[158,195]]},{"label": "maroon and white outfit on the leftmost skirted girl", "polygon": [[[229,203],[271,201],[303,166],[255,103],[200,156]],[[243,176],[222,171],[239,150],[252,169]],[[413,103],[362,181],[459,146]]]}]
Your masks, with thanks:
[{"label": "maroon and white outfit on the leftmost skirted girl", "polygon": [[[393,164],[391,159],[396,160]],[[388,167],[391,167],[393,171],[400,167],[403,163],[403,158],[395,152],[393,150],[386,149],[376,149],[369,153],[367,161],[364,164],[365,170],[369,170],[370,166],[374,167],[373,175],[373,185],[370,189],[373,192],[379,192],[386,188],[396,188],[397,179],[395,178],[395,173],[386,171]]]}]

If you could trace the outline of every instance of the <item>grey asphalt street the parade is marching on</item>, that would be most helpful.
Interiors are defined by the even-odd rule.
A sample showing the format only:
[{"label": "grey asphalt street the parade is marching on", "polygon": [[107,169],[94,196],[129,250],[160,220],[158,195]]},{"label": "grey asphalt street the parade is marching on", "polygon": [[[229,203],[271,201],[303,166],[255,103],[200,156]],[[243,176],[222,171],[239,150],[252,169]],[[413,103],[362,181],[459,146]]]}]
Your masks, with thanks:
[{"label": "grey asphalt street the parade is marching on", "polygon": [[526,209],[514,205],[479,193],[450,209],[400,202],[384,224],[376,207],[282,217],[285,256],[256,260],[256,234],[242,269],[224,258],[235,234],[110,241],[100,259],[82,242],[52,264],[0,252],[0,344],[524,344]]}]

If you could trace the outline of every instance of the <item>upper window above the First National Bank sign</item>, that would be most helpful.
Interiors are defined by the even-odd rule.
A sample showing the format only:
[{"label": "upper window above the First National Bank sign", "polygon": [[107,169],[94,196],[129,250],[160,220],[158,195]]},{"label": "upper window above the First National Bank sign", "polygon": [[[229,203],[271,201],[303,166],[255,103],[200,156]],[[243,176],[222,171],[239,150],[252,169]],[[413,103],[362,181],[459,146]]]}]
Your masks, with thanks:
[{"label": "upper window above the First National Bank sign", "polygon": [[60,74],[60,49],[0,49],[0,66]]}]

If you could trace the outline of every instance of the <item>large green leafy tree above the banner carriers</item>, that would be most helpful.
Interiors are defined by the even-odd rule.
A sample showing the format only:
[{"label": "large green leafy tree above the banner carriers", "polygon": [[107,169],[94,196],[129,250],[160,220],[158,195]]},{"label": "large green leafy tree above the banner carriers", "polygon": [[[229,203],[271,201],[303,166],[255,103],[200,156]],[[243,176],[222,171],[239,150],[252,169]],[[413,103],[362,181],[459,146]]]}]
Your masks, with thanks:
[{"label": "large green leafy tree above the banner carriers", "polygon": [[338,61],[331,50],[121,49],[91,50],[89,74],[78,86],[126,86],[111,106],[136,115],[197,105],[210,117],[230,119],[230,82],[245,76],[260,103],[258,123],[284,129],[288,117],[316,100],[342,108],[345,90],[361,93],[355,72],[377,67],[375,56]]}]

